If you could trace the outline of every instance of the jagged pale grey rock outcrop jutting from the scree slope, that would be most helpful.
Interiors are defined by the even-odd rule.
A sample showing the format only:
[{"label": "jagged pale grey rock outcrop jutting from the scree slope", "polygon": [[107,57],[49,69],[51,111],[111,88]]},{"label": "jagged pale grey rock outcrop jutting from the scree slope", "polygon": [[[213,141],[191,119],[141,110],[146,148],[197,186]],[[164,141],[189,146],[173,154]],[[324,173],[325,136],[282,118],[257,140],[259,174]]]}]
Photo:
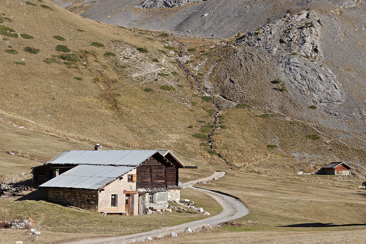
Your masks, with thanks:
[{"label": "jagged pale grey rock outcrop jutting from the scree slope", "polygon": [[344,101],[342,85],[324,64],[321,28],[322,20],[315,11],[301,11],[249,31],[237,43],[276,59],[279,78],[290,90],[299,90],[320,107],[340,105]]}]

